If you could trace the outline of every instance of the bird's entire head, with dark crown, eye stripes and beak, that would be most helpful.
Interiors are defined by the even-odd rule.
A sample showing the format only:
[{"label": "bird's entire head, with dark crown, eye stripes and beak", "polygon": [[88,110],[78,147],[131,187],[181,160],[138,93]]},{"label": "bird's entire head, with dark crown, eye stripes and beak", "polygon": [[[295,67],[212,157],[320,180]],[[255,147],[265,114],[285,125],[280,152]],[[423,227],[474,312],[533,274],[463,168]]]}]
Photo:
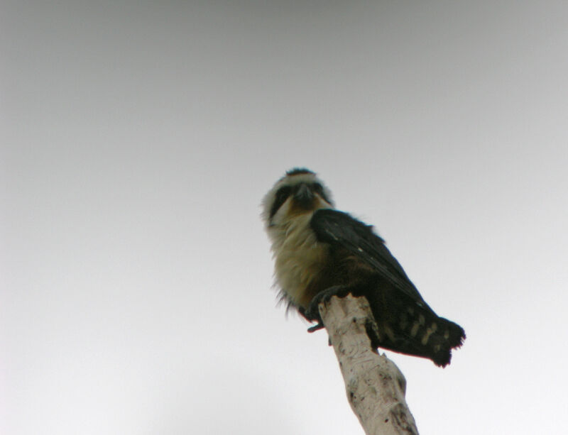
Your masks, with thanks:
[{"label": "bird's entire head, with dark crown, eye stripes and beak", "polygon": [[276,182],[262,202],[267,228],[280,226],[295,216],[317,209],[332,209],[332,194],[315,172],[295,168]]}]

